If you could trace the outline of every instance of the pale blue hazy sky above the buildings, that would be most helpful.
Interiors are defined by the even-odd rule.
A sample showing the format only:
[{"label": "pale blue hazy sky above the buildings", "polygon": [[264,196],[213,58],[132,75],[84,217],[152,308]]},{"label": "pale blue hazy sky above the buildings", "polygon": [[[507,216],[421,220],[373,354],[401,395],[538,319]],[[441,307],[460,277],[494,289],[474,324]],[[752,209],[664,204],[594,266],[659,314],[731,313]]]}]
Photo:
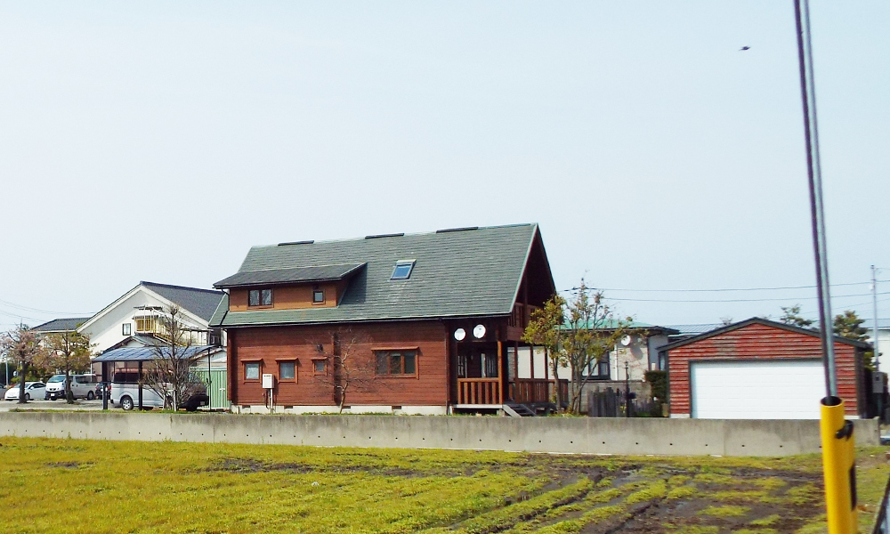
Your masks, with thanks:
[{"label": "pale blue hazy sky above the buildings", "polygon": [[[811,11],[833,307],[890,317],[890,3]],[[636,320],[816,316],[790,0],[0,1],[0,80],[3,329],[509,223]]]}]

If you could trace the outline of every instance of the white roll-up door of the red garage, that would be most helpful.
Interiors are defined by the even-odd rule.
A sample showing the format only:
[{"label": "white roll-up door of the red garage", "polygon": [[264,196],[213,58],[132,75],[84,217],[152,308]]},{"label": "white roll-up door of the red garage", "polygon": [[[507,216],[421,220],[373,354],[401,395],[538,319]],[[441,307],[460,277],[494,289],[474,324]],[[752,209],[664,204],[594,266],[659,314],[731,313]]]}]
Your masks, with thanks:
[{"label": "white roll-up door of the red garage", "polygon": [[818,419],[820,360],[698,361],[690,369],[692,417]]}]

